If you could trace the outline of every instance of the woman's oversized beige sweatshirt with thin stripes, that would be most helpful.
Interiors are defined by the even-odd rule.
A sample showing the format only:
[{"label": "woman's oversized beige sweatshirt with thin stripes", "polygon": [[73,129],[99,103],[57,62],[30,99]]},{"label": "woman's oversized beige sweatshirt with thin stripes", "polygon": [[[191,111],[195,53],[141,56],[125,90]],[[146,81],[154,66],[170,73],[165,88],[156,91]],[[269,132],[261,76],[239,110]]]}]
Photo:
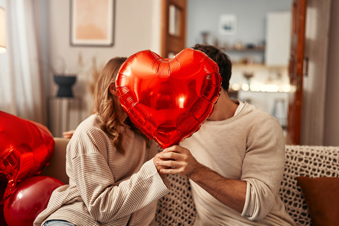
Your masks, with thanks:
[{"label": "woman's oversized beige sweatshirt with thin stripes", "polygon": [[149,225],[157,200],[169,192],[153,163],[158,146],[147,148],[143,137],[126,129],[122,147],[124,155],[100,129],[97,115],[85,119],[67,145],[69,185],[54,190],[34,225],[52,219],[77,226]]}]

